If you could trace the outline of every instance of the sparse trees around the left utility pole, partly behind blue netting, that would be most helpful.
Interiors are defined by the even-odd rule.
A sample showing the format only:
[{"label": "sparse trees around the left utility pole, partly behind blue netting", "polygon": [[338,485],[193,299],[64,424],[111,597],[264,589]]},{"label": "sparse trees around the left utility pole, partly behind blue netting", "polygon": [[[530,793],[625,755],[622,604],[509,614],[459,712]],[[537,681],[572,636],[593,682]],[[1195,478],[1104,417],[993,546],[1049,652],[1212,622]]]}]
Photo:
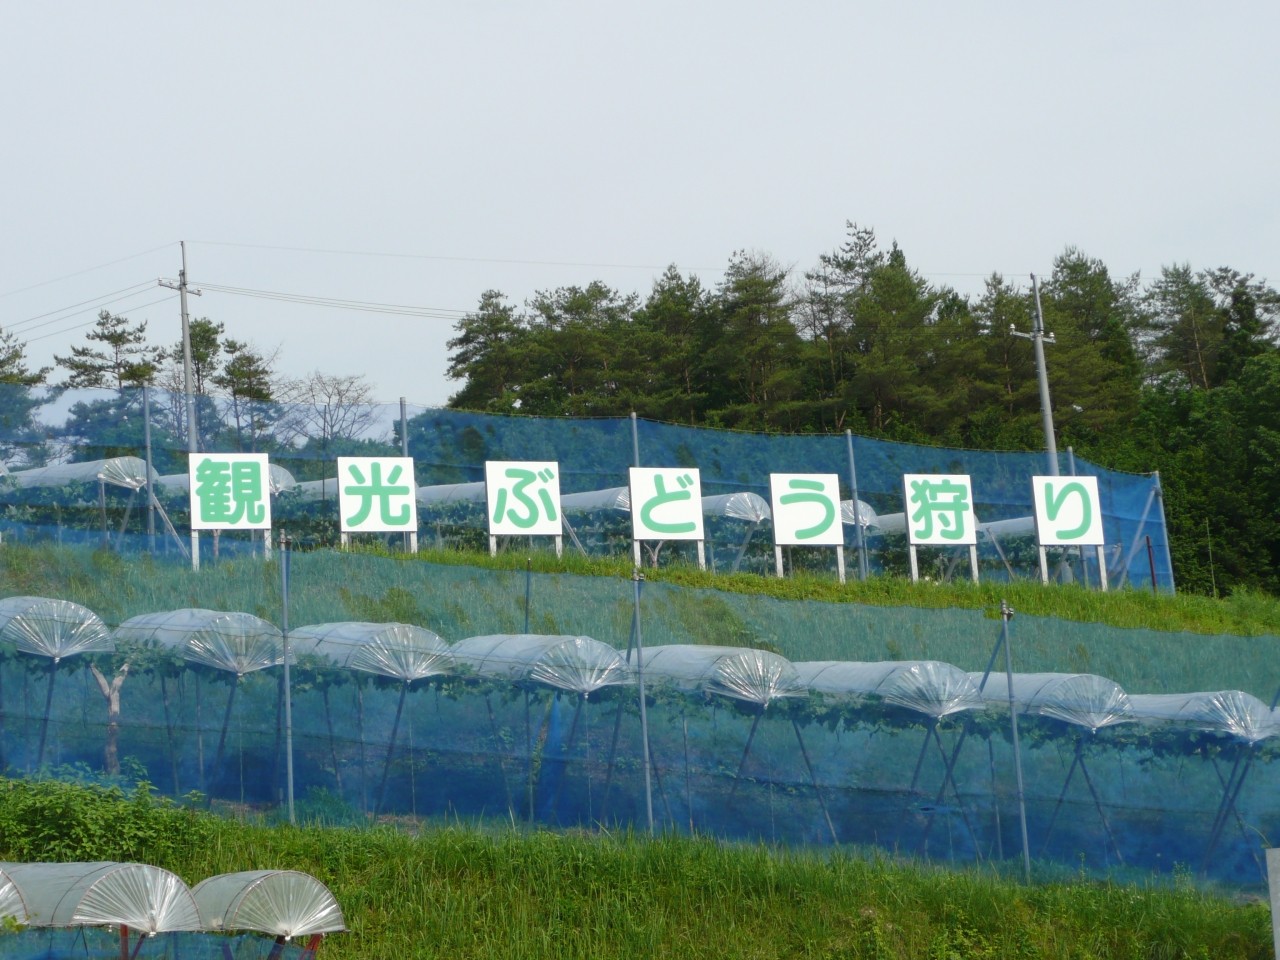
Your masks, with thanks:
[{"label": "sparse trees around the left utility pole, partly behind blue netting", "polygon": [[[0,456],[9,466],[28,467],[69,453],[76,460],[137,454],[143,387],[157,388],[151,431],[161,472],[184,468],[178,457],[192,431],[200,449],[288,451],[300,463],[314,463],[316,477],[325,461],[366,445],[362,435],[375,408],[372,388],[362,375],[314,371],[289,378],[276,367],[279,348],[260,351],[227,335],[225,325],[209,317],[192,319],[188,332],[191,415],[183,343],[151,343],[145,320],[100,311],[82,343],[67,356],[55,355],[56,367],[29,367],[26,344],[0,332],[0,385],[9,385],[0,389]],[[61,378],[55,378],[55,369]],[[52,390],[22,389],[35,387]],[[56,443],[76,451],[51,449],[51,431],[36,412],[77,388],[100,393],[72,403],[67,422],[56,430]],[[301,479],[310,479],[306,468]]]}]

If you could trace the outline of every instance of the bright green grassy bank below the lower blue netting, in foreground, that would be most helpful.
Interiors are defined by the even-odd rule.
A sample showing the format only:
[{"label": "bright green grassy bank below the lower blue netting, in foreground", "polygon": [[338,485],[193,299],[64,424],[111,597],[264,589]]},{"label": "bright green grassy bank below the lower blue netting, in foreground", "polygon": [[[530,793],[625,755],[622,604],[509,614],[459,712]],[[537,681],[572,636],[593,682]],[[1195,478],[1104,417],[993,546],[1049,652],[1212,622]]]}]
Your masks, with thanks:
[{"label": "bright green grassy bank below the lower blue netting, in foreground", "polygon": [[[55,814],[63,829],[50,833]],[[140,860],[188,883],[306,870],[349,933],[329,960],[1267,957],[1270,913],[1172,884],[940,872],[705,838],[243,823],[119,791],[0,780],[0,859]],[[51,856],[55,854],[56,856]],[[3,936],[3,934],[0,934]]]}]

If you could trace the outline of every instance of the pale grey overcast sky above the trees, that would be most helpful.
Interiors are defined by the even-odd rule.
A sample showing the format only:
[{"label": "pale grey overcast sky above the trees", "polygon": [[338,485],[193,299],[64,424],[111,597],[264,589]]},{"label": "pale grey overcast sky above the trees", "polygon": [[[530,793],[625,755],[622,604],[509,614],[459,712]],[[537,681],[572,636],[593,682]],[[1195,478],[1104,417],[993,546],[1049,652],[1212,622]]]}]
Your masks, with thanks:
[{"label": "pale grey overcast sky above the trees", "polygon": [[3,4],[0,329],[173,344],[184,241],[191,315],[282,375],[440,406],[486,289],[799,279],[846,221],[969,294],[1068,246],[1276,284],[1277,35],[1261,0]]}]

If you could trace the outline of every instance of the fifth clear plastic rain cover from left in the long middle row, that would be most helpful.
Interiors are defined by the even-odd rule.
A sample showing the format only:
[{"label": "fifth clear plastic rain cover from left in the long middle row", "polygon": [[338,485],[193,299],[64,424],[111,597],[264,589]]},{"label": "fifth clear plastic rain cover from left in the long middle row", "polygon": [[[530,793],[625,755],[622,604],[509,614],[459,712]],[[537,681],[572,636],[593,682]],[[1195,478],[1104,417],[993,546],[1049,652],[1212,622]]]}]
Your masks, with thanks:
[{"label": "fifth clear plastic rain cover from left in the long middle row", "polygon": [[644,650],[646,680],[678,690],[718,694],[767,707],[785,696],[806,696],[791,660],[745,646],[668,644]]}]

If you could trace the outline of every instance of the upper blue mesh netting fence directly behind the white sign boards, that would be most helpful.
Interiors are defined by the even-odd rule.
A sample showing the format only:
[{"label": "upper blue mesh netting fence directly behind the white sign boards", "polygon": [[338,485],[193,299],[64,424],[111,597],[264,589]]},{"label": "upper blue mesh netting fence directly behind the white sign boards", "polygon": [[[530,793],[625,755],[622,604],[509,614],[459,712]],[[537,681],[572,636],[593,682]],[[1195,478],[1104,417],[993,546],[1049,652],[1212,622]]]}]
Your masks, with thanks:
[{"label": "upper blue mesh netting fence directly behind the white sign boards", "polygon": [[[265,451],[271,462],[292,472],[296,480],[335,476],[340,454],[399,453],[396,404],[356,404],[333,410],[333,404],[269,404],[269,410],[234,411],[229,402],[197,398],[201,449]],[[41,401],[31,406],[35,401]],[[148,396],[150,460],[161,475],[184,474],[187,443],[180,396],[161,390]],[[339,413],[346,419],[339,417]],[[86,462],[109,457],[147,458],[143,398],[141,392],[76,390],[44,396],[13,385],[0,385],[0,456],[14,474],[0,481],[0,532],[9,538],[56,543],[108,544],[120,550],[152,550],[180,556],[178,541],[186,536],[187,500],[183,492],[161,490],[159,499],[174,532],[164,520],[155,520],[155,538],[147,529],[142,494],[108,484],[70,483],[59,488],[24,486],[24,470],[45,463]],[[334,424],[343,422],[343,431]],[[974,507],[979,521],[991,522],[1032,513],[1030,477],[1044,472],[1038,453],[992,453],[916,444],[890,443],[863,436],[777,436],[675,426],[628,419],[547,420],[500,417],[415,407],[407,411],[408,451],[415,460],[419,485],[453,484],[484,479],[486,460],[554,460],[559,462],[563,493],[600,490],[627,484],[627,468],[639,452],[644,466],[696,466],[704,495],[750,492],[768,499],[769,472],[828,472],[841,479],[842,494],[859,498],[878,513],[897,513],[902,506],[902,475],[906,472],[968,474],[973,479]],[[851,468],[856,465],[856,477]],[[1107,548],[1105,562],[1112,585],[1174,589],[1169,540],[1158,481],[1108,471],[1068,454],[1060,457],[1064,474],[1098,477]],[[283,492],[275,498],[276,526],[289,530],[300,543],[329,544],[337,540],[335,493],[324,499],[305,499]],[[570,517],[576,543],[584,550],[621,553],[630,550],[630,520],[618,511],[596,511]],[[485,543],[484,509],[475,503],[424,504],[420,532],[426,543]],[[223,534],[204,538],[202,554],[233,556],[247,549],[251,538]],[[852,527],[846,529],[846,548],[856,549]],[[709,561],[714,570],[772,571],[769,522],[751,524],[710,518]],[[905,575],[908,548],[901,534],[865,539],[872,572]],[[1038,576],[1038,553],[1029,535],[983,536],[979,540],[983,579]],[[692,561],[689,544],[668,544],[664,558]],[[788,550],[792,568],[835,572],[831,550]],[[1098,582],[1093,550],[1052,552],[1059,579]],[[856,570],[856,557],[850,554]],[[963,550],[920,548],[920,570],[929,577],[968,575]]]}]

